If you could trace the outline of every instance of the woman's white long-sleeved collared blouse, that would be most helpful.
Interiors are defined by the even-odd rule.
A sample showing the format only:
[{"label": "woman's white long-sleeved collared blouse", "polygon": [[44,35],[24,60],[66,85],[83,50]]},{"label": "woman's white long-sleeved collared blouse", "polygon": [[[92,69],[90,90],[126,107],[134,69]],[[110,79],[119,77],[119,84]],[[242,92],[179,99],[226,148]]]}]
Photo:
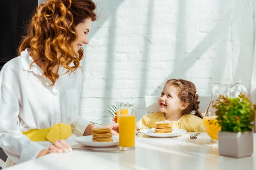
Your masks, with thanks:
[{"label": "woman's white long-sleeved collared blouse", "polygon": [[65,74],[67,70],[60,66],[60,77],[50,86],[38,65],[30,68],[32,62],[26,49],[0,71],[0,147],[15,163],[35,159],[50,144],[31,142],[22,131],[65,123],[72,124],[74,135],[82,136],[90,124],[78,116],[82,71],[77,68]]}]

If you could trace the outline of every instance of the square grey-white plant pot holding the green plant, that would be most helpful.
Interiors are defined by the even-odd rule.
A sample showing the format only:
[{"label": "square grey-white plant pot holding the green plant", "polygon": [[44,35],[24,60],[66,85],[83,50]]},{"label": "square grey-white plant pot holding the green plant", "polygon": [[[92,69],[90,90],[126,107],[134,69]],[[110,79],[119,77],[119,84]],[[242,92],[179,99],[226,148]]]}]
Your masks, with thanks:
[{"label": "square grey-white plant pot holding the green plant", "polygon": [[241,158],[253,154],[253,131],[218,132],[218,152],[222,156]]}]

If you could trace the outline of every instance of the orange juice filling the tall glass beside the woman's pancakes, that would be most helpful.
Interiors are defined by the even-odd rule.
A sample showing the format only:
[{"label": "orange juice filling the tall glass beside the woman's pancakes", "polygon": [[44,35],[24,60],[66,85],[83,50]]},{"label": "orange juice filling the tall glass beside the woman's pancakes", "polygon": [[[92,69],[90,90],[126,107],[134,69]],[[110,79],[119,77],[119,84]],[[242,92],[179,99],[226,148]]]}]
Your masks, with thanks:
[{"label": "orange juice filling the tall glass beside the woman's pancakes", "polygon": [[119,146],[135,146],[135,115],[119,115]]}]

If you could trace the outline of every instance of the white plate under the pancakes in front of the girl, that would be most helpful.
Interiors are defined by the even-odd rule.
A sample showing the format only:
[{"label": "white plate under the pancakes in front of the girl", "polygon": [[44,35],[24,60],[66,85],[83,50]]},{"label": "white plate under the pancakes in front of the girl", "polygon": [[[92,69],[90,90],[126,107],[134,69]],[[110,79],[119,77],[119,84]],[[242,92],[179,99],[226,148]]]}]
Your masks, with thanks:
[{"label": "white plate under the pancakes in front of the girl", "polygon": [[180,136],[183,133],[186,133],[186,130],[184,129],[173,129],[172,133],[154,133],[155,129],[143,129],[140,130],[141,133],[148,135],[148,136],[154,136],[154,137],[174,137],[174,136]]}]

